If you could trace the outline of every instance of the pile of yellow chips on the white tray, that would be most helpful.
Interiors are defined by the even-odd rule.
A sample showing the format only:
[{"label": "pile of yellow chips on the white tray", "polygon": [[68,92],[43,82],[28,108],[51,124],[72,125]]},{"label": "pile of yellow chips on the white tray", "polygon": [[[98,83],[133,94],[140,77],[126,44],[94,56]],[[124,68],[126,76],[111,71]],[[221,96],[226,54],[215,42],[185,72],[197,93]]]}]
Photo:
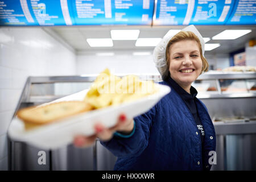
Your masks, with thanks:
[{"label": "pile of yellow chips on the white tray", "polygon": [[135,75],[120,78],[112,75],[109,69],[105,69],[93,82],[85,100],[98,109],[134,101],[156,92],[158,88],[153,81],[142,81]]}]

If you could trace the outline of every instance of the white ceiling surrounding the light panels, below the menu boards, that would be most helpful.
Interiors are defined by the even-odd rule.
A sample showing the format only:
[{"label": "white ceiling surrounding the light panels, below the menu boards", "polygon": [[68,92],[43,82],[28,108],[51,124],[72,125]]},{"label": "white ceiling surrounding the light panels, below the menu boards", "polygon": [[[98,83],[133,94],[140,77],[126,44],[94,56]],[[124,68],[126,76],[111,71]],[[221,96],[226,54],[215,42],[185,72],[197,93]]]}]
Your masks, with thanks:
[{"label": "white ceiling surrounding the light panels, below the menu boards", "polygon": [[[60,36],[76,52],[86,51],[153,51],[154,47],[135,47],[136,40],[113,40],[113,47],[90,47],[86,42],[88,38],[111,38],[110,30],[139,29],[139,38],[162,38],[170,29],[182,29],[185,26],[73,26],[73,27],[47,27]],[[228,54],[245,47],[245,44],[256,38],[256,26],[196,26],[203,37],[212,38],[226,29],[251,29],[252,31],[235,40],[210,40],[208,43],[220,43],[221,46],[206,51],[206,55]]]}]

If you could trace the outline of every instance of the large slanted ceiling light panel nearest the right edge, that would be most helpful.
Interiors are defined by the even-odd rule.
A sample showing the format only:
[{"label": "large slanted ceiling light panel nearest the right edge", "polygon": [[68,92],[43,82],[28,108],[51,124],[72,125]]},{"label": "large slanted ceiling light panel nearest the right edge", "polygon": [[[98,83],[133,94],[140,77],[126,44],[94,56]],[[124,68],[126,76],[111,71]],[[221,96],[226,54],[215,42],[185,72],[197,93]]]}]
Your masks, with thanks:
[{"label": "large slanted ceiling light panel nearest the right edge", "polygon": [[230,40],[230,39],[237,39],[240,36],[250,33],[251,30],[224,30],[213,36],[213,40]]}]

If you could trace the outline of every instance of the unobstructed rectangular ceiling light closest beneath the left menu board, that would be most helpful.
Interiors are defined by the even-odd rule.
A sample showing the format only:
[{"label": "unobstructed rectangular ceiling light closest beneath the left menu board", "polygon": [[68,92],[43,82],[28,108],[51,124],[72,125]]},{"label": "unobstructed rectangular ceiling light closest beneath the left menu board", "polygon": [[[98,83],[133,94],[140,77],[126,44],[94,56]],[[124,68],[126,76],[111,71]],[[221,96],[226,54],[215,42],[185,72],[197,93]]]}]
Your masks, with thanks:
[{"label": "unobstructed rectangular ceiling light closest beneath the left menu board", "polygon": [[110,31],[112,40],[137,40],[139,30],[112,30]]}]

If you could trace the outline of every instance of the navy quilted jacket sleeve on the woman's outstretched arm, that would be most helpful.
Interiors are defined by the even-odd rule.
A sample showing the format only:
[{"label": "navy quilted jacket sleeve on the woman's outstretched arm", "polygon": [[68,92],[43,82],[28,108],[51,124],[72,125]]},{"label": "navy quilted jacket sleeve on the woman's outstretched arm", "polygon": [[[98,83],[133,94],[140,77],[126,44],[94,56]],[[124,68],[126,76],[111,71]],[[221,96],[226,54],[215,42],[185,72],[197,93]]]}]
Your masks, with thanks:
[{"label": "navy quilted jacket sleeve on the woman's outstretched arm", "polygon": [[156,107],[152,107],[146,113],[134,118],[135,131],[129,138],[114,135],[112,139],[101,144],[108,148],[117,157],[140,155],[147,147],[150,136],[150,127],[155,119]]}]

